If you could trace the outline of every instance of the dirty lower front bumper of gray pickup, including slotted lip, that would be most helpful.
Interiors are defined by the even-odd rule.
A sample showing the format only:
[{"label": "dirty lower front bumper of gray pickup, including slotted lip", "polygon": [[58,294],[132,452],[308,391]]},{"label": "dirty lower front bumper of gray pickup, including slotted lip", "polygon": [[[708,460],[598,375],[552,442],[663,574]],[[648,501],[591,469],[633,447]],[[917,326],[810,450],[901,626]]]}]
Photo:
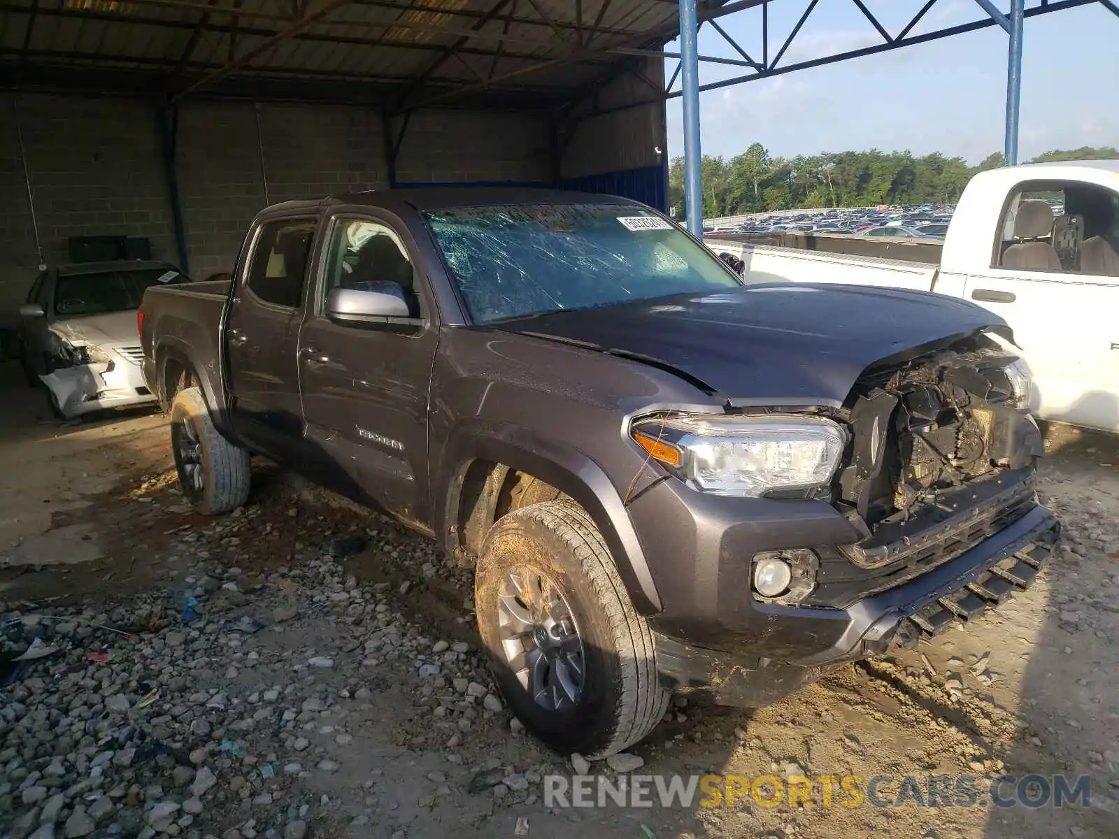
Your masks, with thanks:
[{"label": "dirty lower front bumper of gray pickup, including slotted lip", "polygon": [[[1059,537],[1060,522],[1035,505],[951,562],[847,609],[767,606],[787,632],[798,635],[797,641],[786,644],[800,651],[793,657],[764,654],[756,648],[709,649],[658,632],[655,642],[661,684],[673,690],[709,691],[726,705],[768,705],[815,680],[829,664],[912,649],[958,622],[976,620],[1002,605],[1033,584]],[[818,643],[816,649],[814,642]]]}]

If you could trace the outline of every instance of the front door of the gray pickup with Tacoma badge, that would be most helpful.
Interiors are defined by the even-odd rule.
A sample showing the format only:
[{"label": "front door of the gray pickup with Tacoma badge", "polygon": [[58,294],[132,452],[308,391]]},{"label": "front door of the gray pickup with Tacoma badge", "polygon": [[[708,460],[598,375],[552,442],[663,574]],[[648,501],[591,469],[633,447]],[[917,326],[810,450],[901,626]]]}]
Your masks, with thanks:
[{"label": "front door of the gray pickup with Tacoma badge", "polygon": [[[352,482],[350,494],[427,524],[427,390],[439,332],[415,247],[403,225],[368,210],[339,213],[328,229],[299,338],[308,443]],[[402,286],[414,317],[382,324],[327,317],[333,289],[386,281]]]}]

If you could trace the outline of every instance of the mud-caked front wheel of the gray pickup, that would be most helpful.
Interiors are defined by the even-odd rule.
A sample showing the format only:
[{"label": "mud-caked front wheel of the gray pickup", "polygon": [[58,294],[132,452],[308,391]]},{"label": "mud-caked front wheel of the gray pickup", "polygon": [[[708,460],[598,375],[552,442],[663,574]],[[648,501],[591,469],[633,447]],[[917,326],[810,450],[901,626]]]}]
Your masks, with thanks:
[{"label": "mud-caked front wheel of the gray pickup", "polygon": [[652,634],[573,501],[523,507],[491,528],[474,607],[506,701],[556,751],[613,754],[664,717]]}]

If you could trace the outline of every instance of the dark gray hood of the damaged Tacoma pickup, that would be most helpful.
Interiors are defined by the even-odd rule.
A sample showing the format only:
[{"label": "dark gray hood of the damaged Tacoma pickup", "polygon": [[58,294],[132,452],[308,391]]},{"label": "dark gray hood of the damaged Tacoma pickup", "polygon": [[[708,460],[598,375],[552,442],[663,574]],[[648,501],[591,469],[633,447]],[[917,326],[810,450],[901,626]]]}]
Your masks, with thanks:
[{"label": "dark gray hood of the damaged Tacoma pickup", "polygon": [[731,405],[838,407],[868,367],[901,362],[1005,321],[929,292],[747,285],[495,324],[670,369]]}]

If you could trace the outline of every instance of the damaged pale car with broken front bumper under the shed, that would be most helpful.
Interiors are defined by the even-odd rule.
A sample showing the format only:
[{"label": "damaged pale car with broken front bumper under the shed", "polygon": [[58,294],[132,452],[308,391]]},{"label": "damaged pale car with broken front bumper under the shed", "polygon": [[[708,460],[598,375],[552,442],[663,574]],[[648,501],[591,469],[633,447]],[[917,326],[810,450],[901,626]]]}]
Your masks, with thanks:
[{"label": "damaged pale car with broken front bumper under the shed", "polygon": [[19,308],[28,383],[47,387],[65,420],[156,402],[144,385],[137,310],[152,285],[185,283],[160,262],[98,262],[41,271]]}]

